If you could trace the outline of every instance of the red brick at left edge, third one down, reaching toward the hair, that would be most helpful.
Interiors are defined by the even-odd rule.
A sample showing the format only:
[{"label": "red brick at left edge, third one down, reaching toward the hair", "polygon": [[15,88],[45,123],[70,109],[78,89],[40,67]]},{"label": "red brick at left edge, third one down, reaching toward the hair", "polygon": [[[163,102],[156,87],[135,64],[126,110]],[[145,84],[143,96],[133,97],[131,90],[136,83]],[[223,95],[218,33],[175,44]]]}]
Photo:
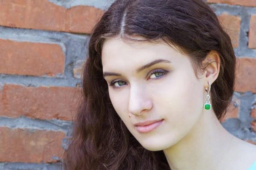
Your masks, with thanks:
[{"label": "red brick at left edge, third one down, reaching toward the hair", "polygon": [[3,85],[0,116],[72,120],[76,109],[76,88]]}]

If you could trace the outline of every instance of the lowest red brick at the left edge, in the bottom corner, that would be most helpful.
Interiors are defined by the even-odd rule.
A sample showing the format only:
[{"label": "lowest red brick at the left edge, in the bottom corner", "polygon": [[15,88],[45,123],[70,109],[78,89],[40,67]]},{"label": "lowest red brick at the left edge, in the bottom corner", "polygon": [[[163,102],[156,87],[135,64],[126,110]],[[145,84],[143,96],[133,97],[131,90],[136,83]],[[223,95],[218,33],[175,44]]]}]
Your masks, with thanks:
[{"label": "lowest red brick at the left edge, in the bottom corner", "polygon": [[61,131],[11,129],[0,127],[1,162],[56,162],[63,153]]}]

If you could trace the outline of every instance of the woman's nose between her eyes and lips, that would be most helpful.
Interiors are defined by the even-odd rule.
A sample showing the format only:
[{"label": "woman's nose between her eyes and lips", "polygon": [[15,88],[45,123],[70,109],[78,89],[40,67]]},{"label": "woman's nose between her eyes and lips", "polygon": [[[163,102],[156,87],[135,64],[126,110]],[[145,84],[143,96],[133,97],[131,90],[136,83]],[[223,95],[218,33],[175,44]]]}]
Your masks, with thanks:
[{"label": "woman's nose between her eyes and lips", "polygon": [[152,100],[148,97],[145,87],[133,85],[130,89],[128,110],[131,114],[139,116],[143,111],[152,108]]}]

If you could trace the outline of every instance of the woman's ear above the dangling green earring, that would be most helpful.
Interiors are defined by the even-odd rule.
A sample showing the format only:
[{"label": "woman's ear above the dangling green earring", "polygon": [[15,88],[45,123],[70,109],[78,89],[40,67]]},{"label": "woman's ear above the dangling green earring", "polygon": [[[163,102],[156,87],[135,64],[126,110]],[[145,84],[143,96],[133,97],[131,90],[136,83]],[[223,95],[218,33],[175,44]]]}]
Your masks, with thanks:
[{"label": "woman's ear above the dangling green earring", "polygon": [[217,51],[210,51],[203,64],[207,65],[204,72],[204,87],[208,88],[208,82],[212,83],[218,78],[221,59]]}]

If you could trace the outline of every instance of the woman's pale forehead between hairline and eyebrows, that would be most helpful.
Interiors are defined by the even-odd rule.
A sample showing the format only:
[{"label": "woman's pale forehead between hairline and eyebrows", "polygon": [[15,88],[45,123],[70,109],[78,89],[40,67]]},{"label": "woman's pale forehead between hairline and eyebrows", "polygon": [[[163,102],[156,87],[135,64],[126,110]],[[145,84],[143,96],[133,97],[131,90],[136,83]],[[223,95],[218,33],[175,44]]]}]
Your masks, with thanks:
[{"label": "woman's pale forehead between hairline and eyebrows", "polygon": [[164,42],[123,42],[118,38],[111,38],[102,47],[103,70],[114,68],[137,68],[155,59],[175,60],[182,56],[177,50]]}]

